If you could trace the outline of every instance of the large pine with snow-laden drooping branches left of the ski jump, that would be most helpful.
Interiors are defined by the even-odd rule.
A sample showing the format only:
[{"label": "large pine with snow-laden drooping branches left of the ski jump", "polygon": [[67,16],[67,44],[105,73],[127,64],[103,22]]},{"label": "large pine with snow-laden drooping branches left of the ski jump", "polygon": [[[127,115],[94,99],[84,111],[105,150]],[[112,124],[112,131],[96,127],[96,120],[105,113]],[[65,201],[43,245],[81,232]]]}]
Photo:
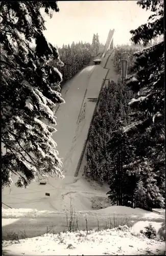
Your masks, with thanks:
[{"label": "large pine with snow-laden drooping branches left of the ski jump", "polygon": [[[64,100],[62,75],[51,65],[63,66],[59,53],[44,37],[40,9],[52,15],[56,2],[1,2],[1,125],[2,186],[27,186],[38,175],[62,177],[61,160],[52,134],[54,111]],[[31,42],[35,40],[35,52]],[[43,122],[44,120],[44,122]],[[48,124],[45,124],[48,123]]]}]

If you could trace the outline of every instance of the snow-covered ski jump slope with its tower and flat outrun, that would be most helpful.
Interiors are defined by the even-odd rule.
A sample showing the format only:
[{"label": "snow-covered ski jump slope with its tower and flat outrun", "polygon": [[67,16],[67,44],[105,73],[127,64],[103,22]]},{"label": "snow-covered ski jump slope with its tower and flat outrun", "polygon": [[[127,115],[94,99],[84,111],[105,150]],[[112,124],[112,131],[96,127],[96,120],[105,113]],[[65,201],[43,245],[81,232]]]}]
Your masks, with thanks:
[{"label": "snow-covered ski jump slope with its tower and flat outrun", "polygon": [[[39,185],[39,182],[35,181],[28,188],[22,189],[14,185],[14,177],[12,187],[3,190],[3,203],[13,208],[63,210],[69,208],[69,193],[73,193],[76,210],[91,209],[90,200],[94,196],[94,188],[89,187],[89,183],[82,177],[82,171],[80,172],[79,169],[80,166],[86,165],[85,148],[89,127],[98,104],[101,88],[109,78],[108,66],[111,65],[110,58],[114,53],[113,50],[107,51],[107,49],[112,39],[113,31],[110,30],[100,65],[84,68],[62,88],[61,94],[65,103],[59,105],[56,112],[57,132],[53,134],[53,138],[57,142],[65,178],[62,180],[49,177],[45,185]],[[97,101],[89,100],[89,98],[96,98]],[[50,197],[46,198],[45,193],[50,193]],[[101,190],[99,186],[95,193],[106,197],[106,191]],[[5,208],[4,205],[3,207]]]}]

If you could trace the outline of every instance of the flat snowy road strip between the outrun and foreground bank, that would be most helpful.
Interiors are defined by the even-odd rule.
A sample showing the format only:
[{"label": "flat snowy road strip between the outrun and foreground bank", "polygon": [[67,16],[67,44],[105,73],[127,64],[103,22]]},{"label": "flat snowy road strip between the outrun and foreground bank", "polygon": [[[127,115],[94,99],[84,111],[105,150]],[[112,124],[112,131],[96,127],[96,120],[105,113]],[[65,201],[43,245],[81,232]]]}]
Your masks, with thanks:
[{"label": "flat snowy road strip between the outrun and foreground bank", "polygon": [[[126,206],[110,206],[100,210],[74,211],[75,226],[78,220],[79,229],[86,229],[86,217],[88,229],[112,228],[118,225],[127,224],[132,226],[133,231],[144,229],[148,223],[152,223],[160,237],[165,237],[164,225],[165,215],[139,208]],[[44,234],[46,230],[51,232],[67,231],[70,219],[70,209],[68,211],[48,211],[36,209],[3,209],[2,210],[2,238],[10,240],[13,233],[19,238],[37,237]],[[73,216],[74,216],[73,215]],[[73,218],[74,220],[74,218]],[[75,230],[75,229],[74,229]]]}]

